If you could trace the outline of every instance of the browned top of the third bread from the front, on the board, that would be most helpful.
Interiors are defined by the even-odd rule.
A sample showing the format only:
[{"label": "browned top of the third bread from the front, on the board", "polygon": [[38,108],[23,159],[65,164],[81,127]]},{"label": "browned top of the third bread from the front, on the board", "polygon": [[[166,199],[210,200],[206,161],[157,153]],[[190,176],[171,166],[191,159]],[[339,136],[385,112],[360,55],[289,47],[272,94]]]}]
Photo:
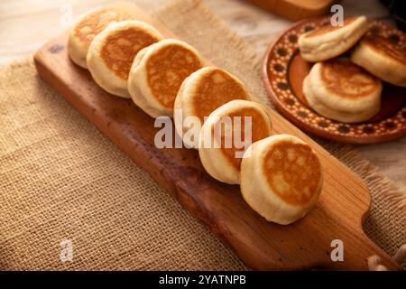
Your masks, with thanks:
[{"label": "browned top of the third bread from the front, on the board", "polygon": [[235,99],[247,99],[245,89],[223,70],[210,70],[199,80],[192,100],[194,114],[203,122],[217,107]]}]

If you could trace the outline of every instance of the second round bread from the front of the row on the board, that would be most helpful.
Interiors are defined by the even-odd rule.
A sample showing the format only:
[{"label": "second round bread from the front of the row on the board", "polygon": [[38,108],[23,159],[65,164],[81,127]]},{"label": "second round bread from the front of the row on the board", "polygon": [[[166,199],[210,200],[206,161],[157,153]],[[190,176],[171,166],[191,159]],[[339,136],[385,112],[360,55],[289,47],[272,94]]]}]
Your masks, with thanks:
[{"label": "second round bread from the front of the row on the board", "polygon": [[271,134],[271,118],[261,105],[248,100],[229,101],[213,111],[201,128],[200,161],[218,181],[239,183],[246,149]]}]

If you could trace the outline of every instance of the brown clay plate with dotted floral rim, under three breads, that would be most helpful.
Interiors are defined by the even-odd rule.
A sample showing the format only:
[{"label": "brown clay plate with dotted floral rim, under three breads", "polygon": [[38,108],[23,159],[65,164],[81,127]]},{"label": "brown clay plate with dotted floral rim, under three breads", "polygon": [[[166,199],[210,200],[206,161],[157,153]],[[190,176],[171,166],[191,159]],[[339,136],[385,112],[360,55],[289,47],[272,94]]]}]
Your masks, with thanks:
[{"label": "brown clay plate with dotted floral rim, under three breads", "polygon": [[[271,44],[263,60],[263,79],[275,107],[294,125],[311,134],[346,144],[375,144],[406,134],[406,89],[383,84],[381,110],[363,123],[346,124],[318,115],[302,94],[302,82],[311,63],[300,57],[298,37],[329,24],[329,17],[295,23]],[[368,33],[401,45],[406,35],[388,23],[373,20]],[[372,60],[373,61],[373,60]]]}]

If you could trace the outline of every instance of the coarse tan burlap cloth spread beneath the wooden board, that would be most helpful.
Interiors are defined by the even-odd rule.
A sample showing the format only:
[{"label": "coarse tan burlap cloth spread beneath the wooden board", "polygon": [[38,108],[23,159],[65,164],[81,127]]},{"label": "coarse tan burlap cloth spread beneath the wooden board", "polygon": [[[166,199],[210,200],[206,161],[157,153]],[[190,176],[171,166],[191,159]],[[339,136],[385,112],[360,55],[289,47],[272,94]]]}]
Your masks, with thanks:
[{"label": "coarse tan burlap cloth spread beneath the wooden board", "polygon": [[[259,58],[204,3],[154,15],[269,104]],[[42,82],[31,58],[1,68],[0,87],[0,269],[246,269]],[[318,141],[367,183],[365,230],[392,255],[406,243],[404,193],[350,147]],[[60,261],[64,239],[72,262]]]}]

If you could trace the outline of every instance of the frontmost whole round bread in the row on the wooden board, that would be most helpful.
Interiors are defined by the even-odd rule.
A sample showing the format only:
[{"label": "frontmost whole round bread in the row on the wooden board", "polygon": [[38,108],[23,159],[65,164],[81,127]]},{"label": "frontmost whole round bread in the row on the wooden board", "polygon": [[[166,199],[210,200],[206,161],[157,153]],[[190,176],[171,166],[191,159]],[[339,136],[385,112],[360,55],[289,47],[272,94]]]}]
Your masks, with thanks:
[{"label": "frontmost whole round bread in the row on the wooden board", "polygon": [[288,225],[318,201],[323,170],[309,144],[293,135],[272,135],[254,143],[241,163],[241,193],[263,218]]}]

